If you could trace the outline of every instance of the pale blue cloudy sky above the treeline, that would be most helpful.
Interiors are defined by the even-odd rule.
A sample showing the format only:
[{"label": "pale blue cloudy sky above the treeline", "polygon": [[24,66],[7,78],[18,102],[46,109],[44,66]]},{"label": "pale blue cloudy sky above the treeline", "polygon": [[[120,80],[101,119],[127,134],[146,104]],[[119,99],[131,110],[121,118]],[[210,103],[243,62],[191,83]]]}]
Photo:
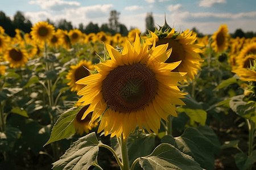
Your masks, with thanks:
[{"label": "pale blue cloudy sky above the treeline", "polygon": [[204,34],[212,34],[221,24],[227,24],[229,32],[237,28],[244,32],[256,31],[255,0],[7,0],[0,2],[0,11],[11,18],[16,11],[32,23],[46,20],[54,22],[66,19],[78,27],[80,23],[108,23],[111,10],[121,13],[119,22],[128,29],[137,27],[146,31],[145,18],[153,13],[155,25],[167,23],[175,29],[196,27]]}]

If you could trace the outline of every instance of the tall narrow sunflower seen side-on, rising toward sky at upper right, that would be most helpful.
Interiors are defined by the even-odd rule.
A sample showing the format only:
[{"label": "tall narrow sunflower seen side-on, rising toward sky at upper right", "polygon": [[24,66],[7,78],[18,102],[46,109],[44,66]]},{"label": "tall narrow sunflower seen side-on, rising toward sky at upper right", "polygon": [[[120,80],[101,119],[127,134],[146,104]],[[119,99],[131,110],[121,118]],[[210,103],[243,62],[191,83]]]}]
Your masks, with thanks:
[{"label": "tall narrow sunflower seen side-on, rising toward sky at upper right", "polygon": [[229,35],[228,35],[228,26],[227,25],[220,25],[218,31],[212,35],[212,46],[216,53],[223,52],[224,50],[228,49],[229,45]]}]

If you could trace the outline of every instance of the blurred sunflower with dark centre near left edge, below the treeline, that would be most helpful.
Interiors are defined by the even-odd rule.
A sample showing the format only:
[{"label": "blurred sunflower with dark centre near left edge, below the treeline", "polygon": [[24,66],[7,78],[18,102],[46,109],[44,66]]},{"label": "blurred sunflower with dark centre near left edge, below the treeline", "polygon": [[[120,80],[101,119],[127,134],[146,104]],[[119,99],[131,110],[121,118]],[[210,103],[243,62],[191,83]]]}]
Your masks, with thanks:
[{"label": "blurred sunflower with dark centre near left edge, below the treeline", "polygon": [[23,67],[27,63],[28,54],[24,49],[9,48],[3,56],[6,61],[9,61],[10,67],[18,68]]}]

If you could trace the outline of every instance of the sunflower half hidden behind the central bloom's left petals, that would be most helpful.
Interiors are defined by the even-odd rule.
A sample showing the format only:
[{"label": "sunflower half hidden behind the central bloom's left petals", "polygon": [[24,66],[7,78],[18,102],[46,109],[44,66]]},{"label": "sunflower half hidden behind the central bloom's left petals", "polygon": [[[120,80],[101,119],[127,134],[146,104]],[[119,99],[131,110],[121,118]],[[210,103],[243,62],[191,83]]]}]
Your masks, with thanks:
[{"label": "sunflower half hidden behind the central bloom's left petals", "polygon": [[90,75],[90,72],[85,69],[94,70],[94,66],[91,61],[80,61],[76,66],[71,66],[72,70],[69,70],[67,74],[67,79],[70,80],[68,86],[71,87],[71,91],[80,91],[85,85],[76,84],[78,80]]}]

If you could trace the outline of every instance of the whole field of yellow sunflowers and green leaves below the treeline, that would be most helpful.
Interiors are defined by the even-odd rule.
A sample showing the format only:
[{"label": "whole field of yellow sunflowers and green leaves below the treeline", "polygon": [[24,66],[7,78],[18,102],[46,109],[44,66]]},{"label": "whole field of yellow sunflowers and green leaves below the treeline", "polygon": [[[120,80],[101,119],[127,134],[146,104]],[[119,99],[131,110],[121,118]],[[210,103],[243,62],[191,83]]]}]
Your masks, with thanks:
[{"label": "whole field of yellow sunflowers and green leaves below the treeline", "polygon": [[256,37],[0,27],[0,169],[256,169]]}]

